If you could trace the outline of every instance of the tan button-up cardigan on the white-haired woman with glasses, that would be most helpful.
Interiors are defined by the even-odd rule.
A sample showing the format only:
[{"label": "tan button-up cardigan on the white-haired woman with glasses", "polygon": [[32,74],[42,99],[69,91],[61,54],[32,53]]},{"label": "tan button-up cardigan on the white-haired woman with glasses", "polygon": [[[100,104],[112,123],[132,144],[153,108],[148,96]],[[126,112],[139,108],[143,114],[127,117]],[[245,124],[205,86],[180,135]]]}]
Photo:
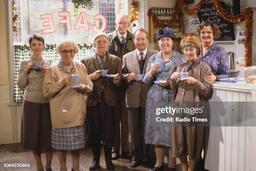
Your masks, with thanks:
[{"label": "tan button-up cardigan on the white-haired woman with glasses", "polygon": [[[86,68],[81,62],[73,61],[75,68],[73,73],[66,72],[58,62],[52,64],[44,77],[43,92],[50,97],[51,125],[54,128],[69,128],[84,124],[86,118],[86,102],[84,93],[92,91],[92,81]],[[80,74],[76,84],[85,84],[87,89],[78,92],[70,86],[73,81],[64,85],[61,79],[66,75]]]}]

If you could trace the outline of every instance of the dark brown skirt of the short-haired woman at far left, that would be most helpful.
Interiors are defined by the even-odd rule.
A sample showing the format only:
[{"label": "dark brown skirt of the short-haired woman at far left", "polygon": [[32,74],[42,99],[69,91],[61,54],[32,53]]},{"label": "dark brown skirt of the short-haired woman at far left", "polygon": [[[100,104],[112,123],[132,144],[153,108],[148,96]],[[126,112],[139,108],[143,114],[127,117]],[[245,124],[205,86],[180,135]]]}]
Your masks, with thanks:
[{"label": "dark brown skirt of the short-haired woman at far left", "polygon": [[24,100],[20,143],[24,149],[51,149],[51,114],[49,103]]}]

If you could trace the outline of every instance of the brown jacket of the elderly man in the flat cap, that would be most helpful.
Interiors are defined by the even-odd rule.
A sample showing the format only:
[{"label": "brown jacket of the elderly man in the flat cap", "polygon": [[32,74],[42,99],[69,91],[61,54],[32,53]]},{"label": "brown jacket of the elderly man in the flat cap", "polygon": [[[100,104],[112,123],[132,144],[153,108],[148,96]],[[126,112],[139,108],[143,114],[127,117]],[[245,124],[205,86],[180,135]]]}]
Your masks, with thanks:
[{"label": "brown jacket of the elderly man in the flat cap", "polygon": [[[100,62],[97,59],[96,53],[88,57],[85,57],[84,59],[81,60],[81,62],[87,68],[87,72],[90,78],[92,78],[92,74],[95,71],[101,69]],[[107,55],[106,57],[104,57],[103,62],[104,62],[103,69],[107,69],[108,74],[119,74],[119,76],[122,79],[122,63],[118,57],[116,57],[115,55],[110,55],[107,52]],[[115,87],[119,87],[120,84],[114,84],[113,78],[108,78],[108,77],[100,77],[99,79],[94,80],[92,82],[93,82],[93,90],[87,97],[87,106],[96,106],[97,103],[100,102],[100,89],[102,85],[104,87],[105,100],[108,106],[112,106],[112,107],[116,106],[117,95],[116,95]]]}]

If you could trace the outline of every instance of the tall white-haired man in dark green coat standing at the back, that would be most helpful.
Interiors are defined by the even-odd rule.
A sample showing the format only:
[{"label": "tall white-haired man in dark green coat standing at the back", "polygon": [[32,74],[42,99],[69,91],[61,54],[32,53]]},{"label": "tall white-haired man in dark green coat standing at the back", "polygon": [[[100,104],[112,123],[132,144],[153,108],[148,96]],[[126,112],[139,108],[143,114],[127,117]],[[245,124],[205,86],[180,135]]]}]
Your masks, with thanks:
[{"label": "tall white-haired man in dark green coat standing at the back", "polygon": [[[108,52],[112,55],[118,56],[123,59],[123,55],[127,54],[136,49],[133,42],[133,34],[128,31],[130,27],[129,17],[125,14],[119,14],[115,19],[116,30],[108,34],[110,40],[110,46]],[[116,160],[119,158],[120,149],[120,122],[121,122],[121,144],[123,158],[131,158],[129,152],[129,128],[128,128],[128,114],[125,107],[125,85],[117,88],[118,102],[116,112],[116,123],[115,123],[115,145],[113,148],[112,159]]]}]

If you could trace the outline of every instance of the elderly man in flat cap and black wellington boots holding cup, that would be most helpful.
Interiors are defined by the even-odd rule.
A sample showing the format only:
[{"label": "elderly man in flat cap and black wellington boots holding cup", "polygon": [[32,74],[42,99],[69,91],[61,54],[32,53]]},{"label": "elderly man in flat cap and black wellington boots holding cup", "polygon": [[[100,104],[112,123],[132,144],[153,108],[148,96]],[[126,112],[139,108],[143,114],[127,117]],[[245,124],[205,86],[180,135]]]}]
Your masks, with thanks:
[{"label": "elderly man in flat cap and black wellington boots holding cup", "polygon": [[[90,170],[96,170],[100,164],[100,147],[104,146],[107,169],[114,169],[111,151],[115,142],[115,106],[117,97],[115,87],[120,85],[122,62],[108,54],[109,39],[103,33],[94,36],[96,52],[85,57],[81,62],[87,68],[87,73],[93,82],[92,93],[87,96],[87,144],[92,146],[93,161]],[[100,70],[108,70],[102,77]],[[114,75],[116,74],[116,75]]]}]

